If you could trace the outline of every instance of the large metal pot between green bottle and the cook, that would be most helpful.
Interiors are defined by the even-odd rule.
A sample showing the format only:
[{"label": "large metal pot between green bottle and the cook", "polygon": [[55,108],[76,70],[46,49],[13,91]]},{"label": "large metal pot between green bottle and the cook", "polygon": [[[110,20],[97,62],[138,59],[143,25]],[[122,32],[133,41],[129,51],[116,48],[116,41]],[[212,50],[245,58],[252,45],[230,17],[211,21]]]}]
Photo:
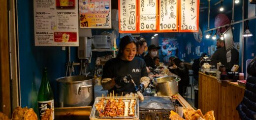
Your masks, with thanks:
[{"label": "large metal pot between green bottle and the cook", "polygon": [[89,106],[94,103],[93,76],[68,76],[58,78],[56,81],[60,107]]}]

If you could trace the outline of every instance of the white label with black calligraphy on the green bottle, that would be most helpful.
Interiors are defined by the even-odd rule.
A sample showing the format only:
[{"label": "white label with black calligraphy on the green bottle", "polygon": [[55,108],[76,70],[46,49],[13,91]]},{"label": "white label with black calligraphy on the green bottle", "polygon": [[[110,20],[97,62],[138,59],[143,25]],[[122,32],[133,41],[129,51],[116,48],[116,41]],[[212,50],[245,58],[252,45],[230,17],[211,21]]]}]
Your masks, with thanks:
[{"label": "white label with black calligraphy on the green bottle", "polygon": [[48,100],[48,101],[38,101],[38,113],[39,113],[39,119],[43,116],[45,113],[45,110],[49,108],[52,109],[52,118],[54,120],[54,100]]}]

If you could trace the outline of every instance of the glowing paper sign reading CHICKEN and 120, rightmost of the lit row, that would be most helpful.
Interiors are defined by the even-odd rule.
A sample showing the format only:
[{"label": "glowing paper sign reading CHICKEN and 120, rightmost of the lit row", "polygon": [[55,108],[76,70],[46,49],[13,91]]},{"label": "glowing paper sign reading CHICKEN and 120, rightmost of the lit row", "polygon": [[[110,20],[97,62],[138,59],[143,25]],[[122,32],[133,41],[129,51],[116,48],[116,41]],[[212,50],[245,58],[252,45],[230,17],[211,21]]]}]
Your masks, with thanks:
[{"label": "glowing paper sign reading CHICKEN and 120, rightmost of the lit row", "polygon": [[179,32],[198,32],[199,0],[180,0]]}]

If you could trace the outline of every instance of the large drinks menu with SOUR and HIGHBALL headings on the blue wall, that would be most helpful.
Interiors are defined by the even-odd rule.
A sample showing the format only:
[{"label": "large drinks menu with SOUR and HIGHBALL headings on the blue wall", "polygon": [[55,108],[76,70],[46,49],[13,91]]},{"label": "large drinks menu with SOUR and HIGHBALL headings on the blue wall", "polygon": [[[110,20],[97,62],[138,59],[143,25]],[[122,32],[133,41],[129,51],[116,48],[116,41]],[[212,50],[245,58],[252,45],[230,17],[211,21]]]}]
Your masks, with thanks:
[{"label": "large drinks menu with SOUR and HIGHBALL headings on the blue wall", "polygon": [[34,0],[35,46],[78,46],[75,0]]}]

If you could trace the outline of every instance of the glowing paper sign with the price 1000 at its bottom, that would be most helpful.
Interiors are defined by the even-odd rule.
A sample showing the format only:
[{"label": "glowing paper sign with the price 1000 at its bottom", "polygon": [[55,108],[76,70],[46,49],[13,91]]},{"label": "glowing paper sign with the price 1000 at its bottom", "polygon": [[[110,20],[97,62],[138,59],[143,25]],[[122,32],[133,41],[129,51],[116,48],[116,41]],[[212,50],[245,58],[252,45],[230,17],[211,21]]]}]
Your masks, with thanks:
[{"label": "glowing paper sign with the price 1000 at its bottom", "polygon": [[177,32],[179,23],[179,0],[159,1],[158,32]]}]

